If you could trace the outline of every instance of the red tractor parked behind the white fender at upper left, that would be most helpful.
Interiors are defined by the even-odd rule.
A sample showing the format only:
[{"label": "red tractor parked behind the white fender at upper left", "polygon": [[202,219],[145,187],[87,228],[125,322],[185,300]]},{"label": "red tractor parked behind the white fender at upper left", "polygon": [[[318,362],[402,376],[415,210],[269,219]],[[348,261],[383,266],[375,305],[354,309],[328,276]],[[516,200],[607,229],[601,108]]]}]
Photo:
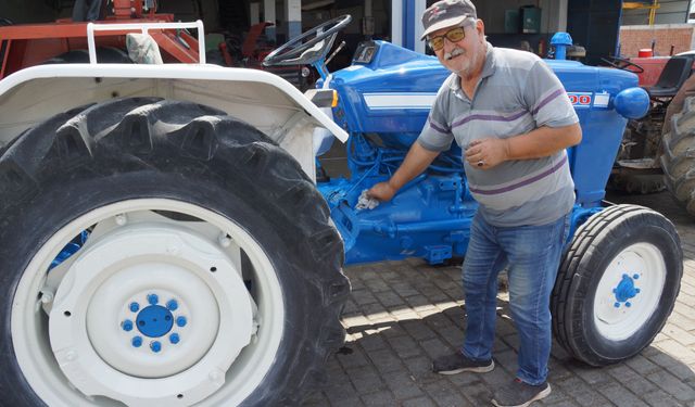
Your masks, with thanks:
[{"label": "red tractor parked behind the white fender at upper left", "polygon": [[[88,21],[110,23],[170,23],[174,14],[157,13],[152,1],[113,0],[112,13],[105,16],[105,0],[92,0],[86,4],[77,1],[72,18],[47,24],[12,25],[0,21],[0,79],[22,68],[46,63],[89,62],[87,38]],[[274,66],[263,64],[263,59],[274,47],[262,41],[264,28],[271,23],[250,27],[241,40],[225,36],[218,51],[210,52],[208,62],[229,67],[250,67],[269,71],[304,90],[316,79],[315,72],[305,65]],[[97,56],[102,63],[131,63],[126,51],[128,33],[138,30],[100,30],[96,33]],[[157,43],[166,62],[197,63],[200,61],[199,43],[187,30],[150,29],[148,34]],[[235,41],[236,40],[236,41]]]}]

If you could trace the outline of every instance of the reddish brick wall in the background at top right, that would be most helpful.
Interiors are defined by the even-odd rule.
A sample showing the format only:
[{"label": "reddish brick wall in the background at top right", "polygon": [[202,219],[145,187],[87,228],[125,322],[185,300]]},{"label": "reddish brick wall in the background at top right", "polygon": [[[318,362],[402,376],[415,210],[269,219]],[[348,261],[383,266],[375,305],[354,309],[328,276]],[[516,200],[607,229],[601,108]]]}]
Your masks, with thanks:
[{"label": "reddish brick wall in the background at top right", "polygon": [[691,24],[634,25],[620,27],[620,54],[636,56],[637,51],[652,48],[656,41],[655,55],[668,55],[690,51],[695,46],[695,26]]}]

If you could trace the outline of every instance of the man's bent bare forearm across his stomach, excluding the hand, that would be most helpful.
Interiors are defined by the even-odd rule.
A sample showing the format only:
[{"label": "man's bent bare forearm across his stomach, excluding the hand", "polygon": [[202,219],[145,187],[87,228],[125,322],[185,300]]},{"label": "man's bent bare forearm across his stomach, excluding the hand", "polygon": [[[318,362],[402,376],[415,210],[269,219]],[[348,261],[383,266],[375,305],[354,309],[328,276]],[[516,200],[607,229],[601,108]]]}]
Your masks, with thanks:
[{"label": "man's bent bare forearm across his stomach, excluding the hand", "polygon": [[546,157],[579,144],[581,140],[582,130],[579,124],[565,127],[540,127],[526,135],[506,139],[507,160]]}]

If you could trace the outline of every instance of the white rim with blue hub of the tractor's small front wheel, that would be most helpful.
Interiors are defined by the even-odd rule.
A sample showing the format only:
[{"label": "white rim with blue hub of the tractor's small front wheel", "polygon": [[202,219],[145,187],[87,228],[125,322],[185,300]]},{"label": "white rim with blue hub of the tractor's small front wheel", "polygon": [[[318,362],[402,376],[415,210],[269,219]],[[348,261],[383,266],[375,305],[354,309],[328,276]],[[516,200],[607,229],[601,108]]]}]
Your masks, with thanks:
[{"label": "white rim with blue hub of the tractor's small front wheel", "polygon": [[594,323],[602,336],[622,341],[656,311],[666,283],[666,262],[650,243],[618,253],[604,271],[594,297]]}]

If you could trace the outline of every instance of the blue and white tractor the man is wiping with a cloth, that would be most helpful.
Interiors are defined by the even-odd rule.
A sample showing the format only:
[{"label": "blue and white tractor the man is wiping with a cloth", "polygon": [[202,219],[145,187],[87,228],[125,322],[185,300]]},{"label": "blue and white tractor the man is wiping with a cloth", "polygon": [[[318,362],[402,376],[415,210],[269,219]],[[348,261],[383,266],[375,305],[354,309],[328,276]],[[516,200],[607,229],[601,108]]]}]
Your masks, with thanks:
[{"label": "blue and white tractor the man is wiping with a cloth", "polygon": [[[90,64],[0,80],[7,404],[294,405],[344,340],[343,264],[465,256],[477,204],[456,147],[391,202],[357,205],[401,164],[448,72],[367,41],[329,73],[350,20],[265,58],[313,64],[321,80],[306,94],[257,69],[94,63],[96,47]],[[131,29],[89,27],[85,43]],[[664,216],[603,201],[626,124],[649,104],[636,76],[547,63],[583,130],[568,151],[577,202],[554,332],[604,366],[659,332],[683,254]],[[346,141],[350,175],[315,183],[334,138]]]}]

